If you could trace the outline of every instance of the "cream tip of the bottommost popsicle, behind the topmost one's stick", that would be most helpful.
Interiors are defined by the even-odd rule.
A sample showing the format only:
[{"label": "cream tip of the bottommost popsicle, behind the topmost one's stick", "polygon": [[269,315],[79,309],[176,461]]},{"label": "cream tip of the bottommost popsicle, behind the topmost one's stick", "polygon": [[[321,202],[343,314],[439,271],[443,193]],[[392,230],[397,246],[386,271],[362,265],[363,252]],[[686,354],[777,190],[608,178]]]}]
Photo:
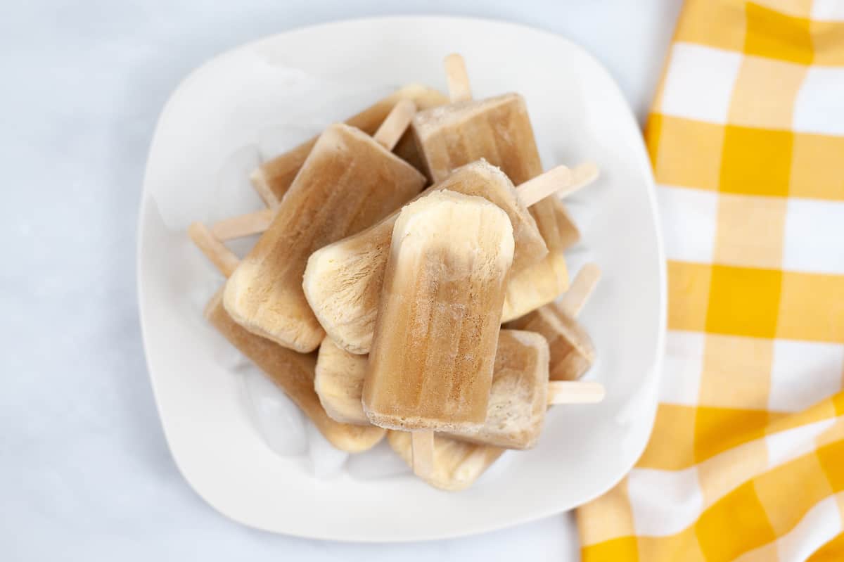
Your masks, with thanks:
[{"label": "cream tip of the bottommost popsicle, behind the topmost one's stick", "polygon": [[[387,442],[404,462],[414,466],[412,437],[407,431],[387,432]],[[432,466],[425,482],[448,491],[467,489],[505,450],[434,435]]]}]

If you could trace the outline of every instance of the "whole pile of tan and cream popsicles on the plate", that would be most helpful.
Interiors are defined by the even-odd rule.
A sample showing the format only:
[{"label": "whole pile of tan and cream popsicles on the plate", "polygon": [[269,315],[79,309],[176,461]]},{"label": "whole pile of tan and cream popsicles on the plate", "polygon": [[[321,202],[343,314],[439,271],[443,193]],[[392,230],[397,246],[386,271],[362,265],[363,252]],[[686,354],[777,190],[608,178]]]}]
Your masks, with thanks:
[{"label": "whole pile of tan and cream popsicles on the plate", "polygon": [[[578,381],[595,350],[576,321],[600,273],[569,283],[560,201],[598,170],[543,173],[522,96],[473,100],[457,55],[446,78],[450,100],[399,89],[264,163],[268,208],[189,234],[228,278],[208,321],[327,440],[387,435],[419,478],[463,489],[534,446],[550,404],[603,399]],[[242,261],[223,244],[258,233]]]}]

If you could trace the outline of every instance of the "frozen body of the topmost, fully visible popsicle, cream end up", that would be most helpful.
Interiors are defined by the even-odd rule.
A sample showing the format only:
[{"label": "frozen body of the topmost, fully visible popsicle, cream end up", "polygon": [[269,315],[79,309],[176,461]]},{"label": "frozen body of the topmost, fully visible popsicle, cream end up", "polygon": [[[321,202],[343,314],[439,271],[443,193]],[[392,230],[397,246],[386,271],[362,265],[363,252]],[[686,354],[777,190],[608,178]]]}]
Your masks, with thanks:
[{"label": "frozen body of the topmost, fully visible popsicle, cream end up", "polygon": [[364,381],[373,424],[484,423],[512,257],[510,220],[483,197],[444,190],[402,209]]}]

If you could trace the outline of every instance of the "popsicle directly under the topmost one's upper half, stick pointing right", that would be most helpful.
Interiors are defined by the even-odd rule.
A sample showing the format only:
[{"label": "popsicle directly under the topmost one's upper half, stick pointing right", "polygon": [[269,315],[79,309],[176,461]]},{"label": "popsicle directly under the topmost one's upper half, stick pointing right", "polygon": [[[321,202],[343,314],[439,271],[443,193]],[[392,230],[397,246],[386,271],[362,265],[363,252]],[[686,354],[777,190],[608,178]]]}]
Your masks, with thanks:
[{"label": "popsicle directly under the topmost one's upper half, stick pointing right", "polygon": [[[571,190],[569,181],[569,170],[560,167],[514,190],[498,168],[479,160],[454,170],[451,176],[425,190],[422,198],[438,190],[483,196],[505,208],[511,223],[518,224],[527,215],[519,212],[520,206],[529,207],[560,187]],[[311,310],[334,342],[354,354],[369,353],[371,347],[387,249],[397,217],[398,213],[393,213],[358,235],[315,251],[308,259],[303,287]],[[514,226],[514,232],[518,230]]]}]

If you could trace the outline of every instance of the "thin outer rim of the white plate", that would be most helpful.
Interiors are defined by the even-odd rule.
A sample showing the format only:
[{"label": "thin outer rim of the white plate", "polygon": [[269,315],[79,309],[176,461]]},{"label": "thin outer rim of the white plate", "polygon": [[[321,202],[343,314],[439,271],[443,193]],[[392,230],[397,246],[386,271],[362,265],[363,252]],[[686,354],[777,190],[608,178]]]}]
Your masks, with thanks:
[{"label": "thin outer rim of the white plate", "polygon": [[[643,377],[645,381],[650,381],[650,392],[648,393],[648,420],[647,420],[647,427],[648,429],[648,437],[647,439],[643,440],[641,446],[637,448],[636,455],[631,457],[632,460],[629,462],[630,466],[625,467],[625,470],[619,473],[617,478],[612,479],[606,486],[600,488],[598,492],[595,494],[591,494],[587,497],[587,500],[583,500],[581,503],[577,505],[571,506],[563,506],[560,508],[548,508],[548,509],[538,509],[533,513],[525,516],[516,516],[508,521],[501,521],[499,523],[493,524],[484,524],[483,527],[471,527],[471,526],[464,526],[460,529],[449,531],[449,532],[417,532],[414,533],[413,537],[393,537],[392,535],[383,535],[377,538],[371,536],[343,536],[339,537],[336,533],[326,533],[326,532],[301,532],[301,531],[279,531],[277,529],[269,528],[266,526],[262,526],[260,524],[255,523],[254,521],[243,521],[239,517],[234,516],[227,511],[220,505],[216,505],[213,500],[211,500],[205,493],[201,487],[197,486],[192,481],[192,478],[188,476],[188,472],[184,469],[181,464],[180,455],[176,452],[176,447],[173,446],[173,443],[170,439],[170,435],[167,429],[167,424],[164,423],[164,418],[162,417],[161,413],[161,400],[159,396],[160,389],[156,386],[155,377],[153,375],[152,369],[150,365],[152,364],[149,348],[148,348],[148,335],[147,335],[147,323],[148,320],[146,318],[146,314],[144,312],[144,307],[142,306],[142,302],[144,300],[145,290],[143,284],[143,270],[142,270],[142,260],[141,257],[143,256],[143,248],[144,248],[144,217],[148,212],[147,205],[149,200],[152,199],[152,195],[149,192],[148,187],[148,178],[149,178],[149,169],[150,169],[150,159],[149,155],[152,154],[154,145],[156,143],[157,138],[159,137],[158,132],[160,129],[160,125],[164,122],[165,116],[168,114],[168,110],[170,108],[171,101],[174,99],[177,92],[179,92],[182,88],[184,88],[187,84],[189,84],[192,79],[194,79],[198,73],[203,71],[203,69],[210,67],[220,60],[224,59],[225,57],[229,57],[235,52],[238,51],[245,51],[255,46],[258,46],[262,43],[268,43],[277,40],[279,37],[284,35],[289,35],[291,33],[302,32],[307,30],[317,30],[320,28],[327,29],[335,26],[342,26],[344,24],[366,24],[366,23],[387,23],[387,22],[396,22],[396,21],[403,21],[403,22],[413,22],[419,21],[419,19],[428,20],[429,22],[435,21],[450,21],[450,22],[464,22],[468,24],[493,24],[499,25],[503,27],[513,28],[517,30],[521,30],[522,32],[529,32],[534,35],[544,35],[546,37],[552,38],[555,41],[563,41],[567,46],[571,49],[579,51],[583,57],[586,57],[592,64],[599,69],[599,72],[603,73],[605,77],[608,79],[608,83],[611,84],[611,87],[614,89],[614,94],[618,95],[621,100],[624,101],[625,105],[625,119],[628,120],[633,127],[636,128],[640,132],[639,143],[636,146],[636,152],[638,152],[638,157],[636,160],[638,161],[638,167],[641,168],[642,176],[646,181],[646,192],[647,192],[647,199],[650,208],[652,209],[653,213],[653,226],[655,237],[657,240],[657,259],[659,262],[658,267],[658,293],[659,293],[659,322],[657,326],[657,345],[655,346],[655,356],[652,359],[652,370],[646,376]],[[668,293],[667,293],[667,262],[665,257],[665,248],[664,248],[664,240],[663,240],[663,229],[662,229],[662,220],[660,218],[659,206],[657,203],[657,186],[656,181],[654,180],[652,167],[650,164],[650,159],[647,155],[647,149],[644,142],[644,138],[641,136],[641,127],[636,120],[636,116],[634,111],[632,110],[630,103],[626,100],[625,95],[623,94],[622,90],[619,88],[619,84],[613,78],[613,76],[609,73],[609,70],[598,60],[597,57],[594,57],[591,52],[587,51],[586,48],[583,46],[578,45],[574,41],[571,41],[569,38],[565,37],[565,35],[556,34],[549,30],[540,29],[537,27],[533,27],[532,25],[528,24],[521,24],[521,23],[514,23],[511,21],[506,21],[502,19],[494,19],[494,18],[479,18],[473,16],[463,16],[463,15],[436,15],[436,14],[402,14],[402,15],[383,15],[383,16],[371,16],[371,17],[360,17],[360,18],[350,18],[350,19],[332,19],[329,21],[318,22],[314,24],[307,24],[303,26],[293,27],[288,30],[280,31],[279,33],[275,33],[272,35],[264,35],[257,39],[253,39],[252,41],[246,41],[241,43],[237,46],[233,46],[231,48],[225,49],[225,51],[219,51],[216,54],[208,57],[205,61],[199,64],[197,67],[192,68],[190,72],[188,72],[184,78],[176,84],[176,86],[170,91],[170,94],[167,96],[167,100],[165,104],[162,106],[162,109],[159,113],[158,118],[155,121],[155,127],[153,129],[153,134],[150,138],[149,147],[147,149],[147,159],[146,164],[144,165],[143,170],[143,184],[140,193],[140,205],[138,208],[138,219],[136,223],[136,245],[135,245],[135,277],[136,277],[136,289],[137,289],[137,299],[138,299],[138,322],[140,323],[141,327],[141,338],[143,343],[143,359],[147,365],[147,371],[149,375],[150,386],[152,386],[155,409],[158,413],[158,419],[161,424],[162,432],[165,435],[165,442],[167,444],[167,448],[170,451],[170,456],[173,458],[173,461],[176,464],[176,467],[181,473],[182,478],[188,484],[188,487],[192,489],[200,498],[203,499],[208,505],[214,508],[214,511],[218,511],[222,516],[225,516],[230,521],[235,521],[245,527],[250,528],[257,528],[262,531],[266,532],[273,532],[275,534],[284,534],[291,537],[300,537],[300,538],[310,538],[310,539],[318,539],[318,540],[333,540],[333,541],[341,541],[341,542],[348,542],[348,543],[407,543],[407,542],[414,542],[414,541],[432,541],[432,540],[441,540],[447,538],[460,538],[460,537],[467,537],[471,535],[476,535],[479,533],[484,532],[493,532],[500,529],[505,529],[509,527],[515,527],[517,525],[522,525],[531,521],[536,521],[538,519],[553,516],[555,514],[563,513],[565,511],[570,511],[571,509],[576,508],[579,505],[587,504],[588,502],[598,498],[599,496],[605,494],[610,489],[613,489],[619,482],[625,478],[625,476],[630,473],[630,469],[636,465],[641,455],[644,453],[647,444],[650,440],[650,435],[652,433],[653,424],[656,419],[657,414],[657,407],[658,407],[658,393],[659,393],[659,385],[660,380],[662,378],[662,371],[663,371],[663,358],[664,358],[664,349],[665,349],[665,341],[666,341],[666,333],[667,333],[667,309],[668,309]]]}]

